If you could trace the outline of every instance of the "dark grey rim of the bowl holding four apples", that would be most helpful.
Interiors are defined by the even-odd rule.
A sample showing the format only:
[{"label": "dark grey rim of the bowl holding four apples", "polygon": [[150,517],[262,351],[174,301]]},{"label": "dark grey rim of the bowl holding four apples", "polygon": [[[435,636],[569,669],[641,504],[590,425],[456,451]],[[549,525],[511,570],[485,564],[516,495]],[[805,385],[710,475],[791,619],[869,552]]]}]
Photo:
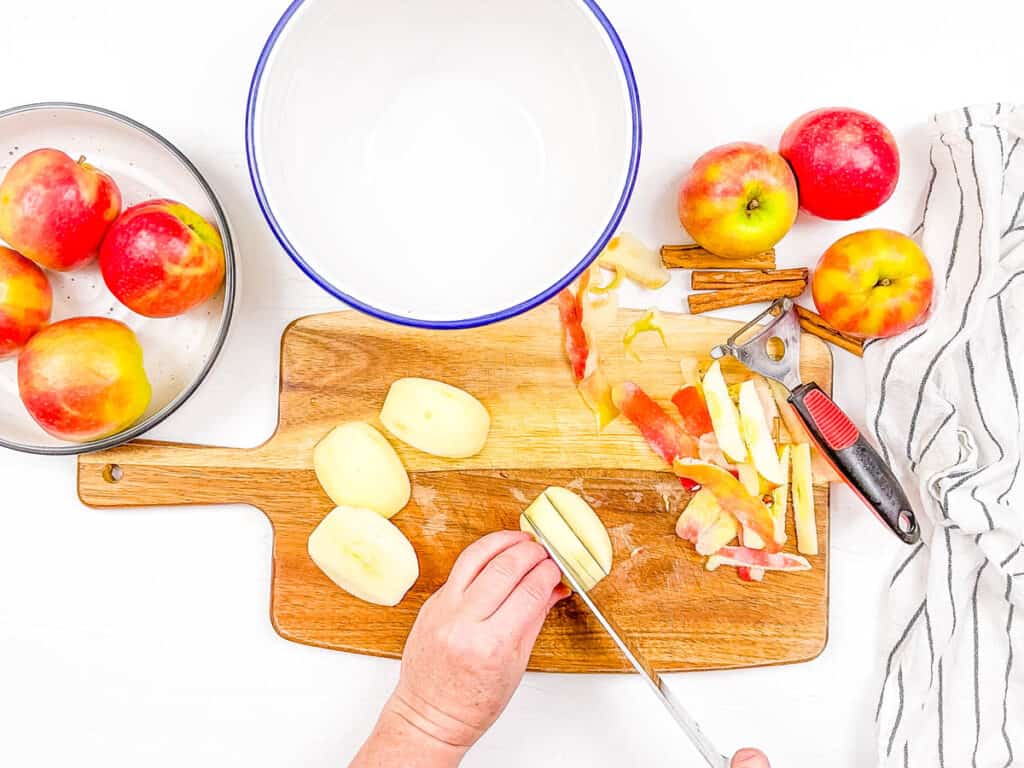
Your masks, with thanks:
[{"label": "dark grey rim of the bowl holding four apples", "polygon": [[217,357],[220,356],[220,350],[223,348],[224,342],[227,340],[227,331],[231,326],[231,314],[234,311],[234,293],[238,271],[234,263],[234,244],[231,240],[231,229],[227,223],[227,216],[224,214],[224,209],[220,205],[220,200],[213,191],[213,187],[210,186],[203,174],[200,173],[199,169],[178,147],[148,126],[142,125],[138,121],[132,120],[125,115],[112,110],[103,109],[102,106],[77,103],[75,101],[36,101],[31,104],[11,106],[7,110],[0,110],[0,120],[10,117],[11,115],[17,115],[23,112],[34,112],[37,110],[75,110],[78,112],[89,112],[94,115],[99,115],[101,117],[110,118],[116,122],[123,123],[129,128],[134,128],[135,130],[144,133],[150,138],[155,139],[157,143],[161,144],[164,148],[171,153],[171,155],[173,155],[178,162],[181,163],[185,170],[191,173],[199,185],[203,187],[203,190],[206,193],[209,203],[213,208],[217,228],[220,230],[221,240],[224,245],[224,307],[220,312],[220,328],[217,331],[217,338],[214,340],[213,347],[210,349],[210,354],[207,357],[206,362],[203,365],[202,370],[196,378],[193,379],[188,386],[182,389],[173,400],[168,402],[160,411],[147,419],[136,422],[132,426],[117,432],[116,434],[112,434],[98,440],[90,440],[89,442],[76,442],[66,445],[30,445],[20,442],[12,442],[11,440],[5,440],[3,437],[0,437],[0,447],[19,451],[24,454],[36,454],[38,456],[75,456],[78,454],[90,454],[95,451],[105,451],[128,442],[129,440],[148,432],[181,408],[181,406],[184,404],[184,401],[191,397],[196,390],[199,389],[199,385],[203,383],[204,379],[206,379],[207,374],[209,374],[213,369],[213,364],[216,361]]}]

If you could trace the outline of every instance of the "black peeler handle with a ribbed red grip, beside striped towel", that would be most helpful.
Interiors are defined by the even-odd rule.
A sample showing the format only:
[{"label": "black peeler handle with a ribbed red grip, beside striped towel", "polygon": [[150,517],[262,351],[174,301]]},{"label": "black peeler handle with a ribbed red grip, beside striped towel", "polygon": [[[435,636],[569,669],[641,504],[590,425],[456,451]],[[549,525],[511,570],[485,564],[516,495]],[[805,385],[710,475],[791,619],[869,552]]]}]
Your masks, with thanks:
[{"label": "black peeler handle with a ribbed red grip, beside striped towel", "polygon": [[915,544],[921,528],[910,501],[892,469],[850,417],[813,383],[794,389],[790,404],[844,482],[904,544]]}]

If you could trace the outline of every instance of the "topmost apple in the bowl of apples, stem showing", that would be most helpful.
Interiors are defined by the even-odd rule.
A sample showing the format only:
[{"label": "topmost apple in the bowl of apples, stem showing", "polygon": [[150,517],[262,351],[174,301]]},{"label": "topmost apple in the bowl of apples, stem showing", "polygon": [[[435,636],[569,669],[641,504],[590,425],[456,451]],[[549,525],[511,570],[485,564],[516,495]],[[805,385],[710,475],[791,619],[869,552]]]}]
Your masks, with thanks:
[{"label": "topmost apple in the bowl of apples, stem showing", "polygon": [[59,150],[30,152],[0,182],[0,238],[47,269],[88,263],[120,212],[114,179]]}]

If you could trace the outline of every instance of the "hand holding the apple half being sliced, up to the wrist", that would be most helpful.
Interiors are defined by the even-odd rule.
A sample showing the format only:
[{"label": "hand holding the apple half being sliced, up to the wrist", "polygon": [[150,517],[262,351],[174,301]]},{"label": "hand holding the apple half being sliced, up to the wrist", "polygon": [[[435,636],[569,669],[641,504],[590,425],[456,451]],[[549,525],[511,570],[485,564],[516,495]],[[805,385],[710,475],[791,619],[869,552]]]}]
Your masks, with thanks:
[{"label": "hand holding the apple half being sliced, up to the wrist", "polygon": [[569,594],[526,534],[499,531],[470,545],[420,610],[386,711],[468,750],[511,699],[548,611]]}]

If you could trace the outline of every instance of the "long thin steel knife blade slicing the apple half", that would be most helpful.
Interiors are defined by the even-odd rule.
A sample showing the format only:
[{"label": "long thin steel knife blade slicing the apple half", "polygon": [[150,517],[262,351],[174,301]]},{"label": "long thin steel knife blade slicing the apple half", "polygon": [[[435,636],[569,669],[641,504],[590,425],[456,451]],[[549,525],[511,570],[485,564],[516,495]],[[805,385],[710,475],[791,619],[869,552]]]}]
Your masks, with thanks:
[{"label": "long thin steel knife blade slicing the apple half", "polygon": [[[554,506],[554,505],[552,505]],[[561,511],[555,508],[561,516]],[[703,731],[700,730],[700,726],[697,721],[686,711],[686,709],[680,703],[679,699],[676,698],[675,694],[669,689],[665,684],[665,680],[662,676],[654,670],[650,665],[650,662],[646,658],[643,652],[631,641],[628,641],[626,637],[620,632],[618,627],[612,622],[610,616],[605,614],[594,602],[594,599],[587,594],[587,591],[583,589],[580,584],[580,580],[577,578],[575,572],[572,568],[565,562],[558,551],[551,545],[544,531],[537,525],[534,519],[529,516],[528,512],[523,512],[523,517],[526,518],[526,522],[534,529],[534,534],[537,536],[540,544],[544,549],[548,551],[551,559],[555,561],[559,570],[565,577],[565,581],[568,582],[569,587],[573,592],[579,595],[580,599],[583,601],[584,605],[594,614],[594,617],[598,621],[604,631],[608,633],[608,636],[614,641],[618,650],[622,654],[626,656],[633,669],[640,673],[640,676],[647,681],[650,689],[657,696],[658,700],[664,705],[665,709],[669,711],[673,719],[683,730],[683,733],[690,739],[693,745],[696,748],[697,752],[700,753],[701,757],[708,762],[711,768],[728,768],[729,759],[726,758],[722,753],[715,749],[715,745],[711,742],[711,739],[705,735]],[[563,518],[564,519],[564,518]],[[571,530],[571,527],[569,527]],[[583,542],[581,542],[583,544]],[[586,549],[586,544],[584,544]],[[587,550],[588,552],[590,550]],[[597,562],[597,559],[594,558]],[[598,568],[600,564],[598,563]],[[603,570],[603,569],[602,569]]]}]

